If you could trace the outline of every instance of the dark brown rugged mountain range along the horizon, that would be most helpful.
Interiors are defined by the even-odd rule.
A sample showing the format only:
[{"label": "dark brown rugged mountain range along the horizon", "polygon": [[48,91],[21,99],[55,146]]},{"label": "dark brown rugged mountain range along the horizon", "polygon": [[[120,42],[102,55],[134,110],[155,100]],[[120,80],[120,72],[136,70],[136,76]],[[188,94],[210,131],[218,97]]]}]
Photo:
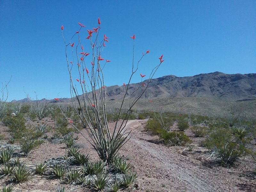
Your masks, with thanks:
[{"label": "dark brown rugged mountain range along the horizon", "polygon": [[[148,80],[143,81],[145,84],[147,82]],[[140,83],[130,84],[128,95],[132,94],[140,85]],[[124,96],[123,86],[114,85],[105,87],[105,89],[108,100],[118,100]],[[140,91],[141,89],[134,96]],[[200,97],[230,101],[256,100],[256,74],[214,72],[188,77],[168,75],[152,79],[142,96],[145,99],[173,97]],[[45,99],[43,100],[45,101]],[[20,101],[26,102],[26,99]],[[70,102],[71,99],[63,98],[59,101]]]}]

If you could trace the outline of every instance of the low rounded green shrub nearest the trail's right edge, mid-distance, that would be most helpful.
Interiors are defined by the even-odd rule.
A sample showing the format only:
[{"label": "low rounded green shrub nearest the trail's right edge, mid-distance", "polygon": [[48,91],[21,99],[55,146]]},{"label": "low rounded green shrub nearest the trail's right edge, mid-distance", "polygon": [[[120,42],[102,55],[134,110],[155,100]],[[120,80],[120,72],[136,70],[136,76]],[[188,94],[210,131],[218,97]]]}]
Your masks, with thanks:
[{"label": "low rounded green shrub nearest the trail's right edge, mid-distance", "polygon": [[189,137],[181,131],[165,131],[160,135],[160,137],[164,139],[164,143],[169,143],[172,146],[185,145],[192,142]]}]

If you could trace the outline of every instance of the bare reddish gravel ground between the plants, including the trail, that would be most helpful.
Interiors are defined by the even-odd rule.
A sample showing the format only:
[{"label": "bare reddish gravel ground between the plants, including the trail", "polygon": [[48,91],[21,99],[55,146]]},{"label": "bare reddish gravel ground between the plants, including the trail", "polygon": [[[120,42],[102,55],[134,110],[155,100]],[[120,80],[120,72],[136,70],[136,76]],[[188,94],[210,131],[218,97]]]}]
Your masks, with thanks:
[{"label": "bare reddish gravel ground between the plants, including the trail", "polygon": [[[137,192],[176,192],[176,191],[256,191],[256,164],[249,158],[245,158],[234,167],[221,167],[214,158],[204,156],[205,148],[199,147],[202,138],[193,137],[190,130],[185,133],[193,140],[194,146],[191,152],[184,148],[188,146],[170,147],[158,142],[157,136],[151,135],[144,129],[147,120],[129,120],[128,131],[131,131],[130,140],[120,150],[132,165],[133,171],[138,174],[137,188],[131,187],[124,191]],[[113,123],[110,123],[110,125]],[[4,140],[0,141],[0,147],[4,146],[10,137],[7,127],[0,124],[0,133],[4,134]],[[86,131],[82,130],[86,135]],[[79,134],[77,134],[79,135]],[[76,143],[81,151],[88,153],[90,160],[98,159],[97,153],[81,135]],[[255,148],[255,143],[253,144]],[[49,161],[65,154],[65,145],[47,141],[28,157],[21,158],[21,162],[35,169],[36,163]],[[53,159],[54,160],[54,159]],[[9,179],[0,179],[0,185]],[[90,191],[81,186],[70,186],[47,176],[33,175],[25,184],[15,185],[16,191],[47,192],[54,191],[60,185],[65,185],[69,191]]]}]

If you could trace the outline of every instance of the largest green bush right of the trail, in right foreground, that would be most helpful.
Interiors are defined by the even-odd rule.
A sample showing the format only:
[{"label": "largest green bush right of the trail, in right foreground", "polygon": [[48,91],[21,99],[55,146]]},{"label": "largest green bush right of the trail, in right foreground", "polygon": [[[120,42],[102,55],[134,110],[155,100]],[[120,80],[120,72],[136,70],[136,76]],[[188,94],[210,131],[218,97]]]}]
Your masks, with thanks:
[{"label": "largest green bush right of the trail, in right foreground", "polygon": [[245,143],[236,140],[232,131],[228,129],[216,129],[205,140],[208,149],[216,151],[221,164],[232,166],[240,157],[250,153]]}]

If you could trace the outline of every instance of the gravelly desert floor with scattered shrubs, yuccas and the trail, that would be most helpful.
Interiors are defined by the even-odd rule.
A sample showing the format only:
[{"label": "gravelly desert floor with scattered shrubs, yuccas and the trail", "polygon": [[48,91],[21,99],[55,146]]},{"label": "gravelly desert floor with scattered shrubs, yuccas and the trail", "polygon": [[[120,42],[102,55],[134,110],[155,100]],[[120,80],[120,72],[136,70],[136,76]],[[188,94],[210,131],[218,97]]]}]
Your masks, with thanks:
[{"label": "gravelly desert floor with scattered shrubs, yuccas and the trail", "polygon": [[13,105],[0,124],[1,191],[256,189],[255,121],[242,114],[230,126],[225,116],[134,110],[130,140],[107,164],[69,123],[86,135],[72,108],[62,107],[68,120],[56,104],[40,119],[28,104],[11,116]]}]

